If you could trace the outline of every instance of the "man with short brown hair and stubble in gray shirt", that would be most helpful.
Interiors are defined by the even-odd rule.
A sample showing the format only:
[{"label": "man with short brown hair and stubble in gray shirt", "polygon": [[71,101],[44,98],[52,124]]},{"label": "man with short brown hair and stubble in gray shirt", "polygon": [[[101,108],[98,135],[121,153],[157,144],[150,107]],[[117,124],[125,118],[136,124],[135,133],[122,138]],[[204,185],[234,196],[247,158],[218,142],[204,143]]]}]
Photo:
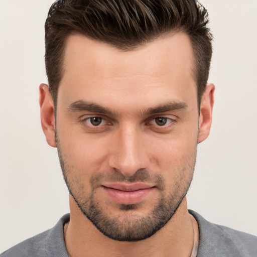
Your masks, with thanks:
[{"label": "man with short brown hair and stubble in gray shirt", "polygon": [[187,210],[212,118],[207,23],[193,0],[52,6],[41,122],[70,216],[3,256],[256,255],[256,237]]}]

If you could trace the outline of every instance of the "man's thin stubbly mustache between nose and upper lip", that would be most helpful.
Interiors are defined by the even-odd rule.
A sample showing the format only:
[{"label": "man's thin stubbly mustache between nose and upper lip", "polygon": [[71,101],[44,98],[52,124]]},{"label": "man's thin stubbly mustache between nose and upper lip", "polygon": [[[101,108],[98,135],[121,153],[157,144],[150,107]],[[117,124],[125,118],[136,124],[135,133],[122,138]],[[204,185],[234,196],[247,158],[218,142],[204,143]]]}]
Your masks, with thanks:
[{"label": "man's thin stubbly mustache between nose and upper lip", "polygon": [[163,190],[165,186],[162,175],[151,173],[147,169],[139,169],[133,175],[125,176],[121,171],[114,168],[112,172],[100,172],[92,176],[90,179],[90,185],[92,188],[96,188],[101,185],[102,182],[146,182],[155,184],[159,190]]}]

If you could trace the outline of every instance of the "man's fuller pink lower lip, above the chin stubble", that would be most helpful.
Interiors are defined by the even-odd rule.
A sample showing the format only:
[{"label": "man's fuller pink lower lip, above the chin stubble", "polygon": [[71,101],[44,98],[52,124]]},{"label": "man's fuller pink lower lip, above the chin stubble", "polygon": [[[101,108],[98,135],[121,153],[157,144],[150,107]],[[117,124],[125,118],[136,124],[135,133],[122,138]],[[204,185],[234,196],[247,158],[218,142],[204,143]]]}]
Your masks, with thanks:
[{"label": "man's fuller pink lower lip, above the chin stubble", "polygon": [[143,201],[154,190],[154,187],[130,192],[109,187],[103,187],[103,189],[115,202],[119,204],[136,204]]}]

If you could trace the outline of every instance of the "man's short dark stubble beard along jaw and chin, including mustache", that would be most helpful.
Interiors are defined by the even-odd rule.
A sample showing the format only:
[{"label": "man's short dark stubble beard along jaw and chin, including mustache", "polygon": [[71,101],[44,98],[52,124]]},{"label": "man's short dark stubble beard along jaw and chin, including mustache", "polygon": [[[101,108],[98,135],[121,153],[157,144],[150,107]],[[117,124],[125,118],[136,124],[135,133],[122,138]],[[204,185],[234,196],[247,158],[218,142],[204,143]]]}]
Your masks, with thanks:
[{"label": "man's short dark stubble beard along jaw and chin, including mustache", "polygon": [[[187,194],[190,187],[195,161],[196,161],[196,148],[195,153],[190,159],[190,163],[181,168],[180,177],[169,194],[165,194],[165,180],[162,175],[151,175],[146,169],[140,169],[131,177],[125,177],[120,171],[113,170],[111,174],[99,173],[91,178],[91,193],[88,197],[80,190],[83,185],[79,180],[74,178],[72,168],[65,161],[62,153],[60,141],[56,135],[56,145],[58,149],[59,161],[63,172],[65,183],[68,187],[69,193],[73,197],[77,206],[87,217],[94,226],[105,236],[117,241],[139,241],[144,240],[154,235],[165,224],[167,224],[177,209],[179,208],[182,200]],[[145,216],[140,215],[139,211],[132,214],[132,210],[140,210],[141,204],[119,204],[121,213],[114,217],[108,215],[108,210],[95,197],[95,186],[97,182],[113,181],[113,182],[155,182],[158,184],[160,197],[155,202],[152,210]],[[167,191],[167,189],[166,189]]]}]

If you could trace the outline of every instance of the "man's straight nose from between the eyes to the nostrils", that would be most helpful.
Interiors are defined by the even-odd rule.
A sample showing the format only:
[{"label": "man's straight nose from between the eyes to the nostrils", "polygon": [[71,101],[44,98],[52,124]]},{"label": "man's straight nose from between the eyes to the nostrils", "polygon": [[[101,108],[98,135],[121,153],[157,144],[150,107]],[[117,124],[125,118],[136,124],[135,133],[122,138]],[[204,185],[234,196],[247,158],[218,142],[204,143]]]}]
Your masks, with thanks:
[{"label": "man's straight nose from between the eyes to the nostrils", "polygon": [[136,127],[120,128],[110,146],[109,166],[119,170],[124,176],[132,176],[139,169],[147,169],[150,156],[147,142]]}]

